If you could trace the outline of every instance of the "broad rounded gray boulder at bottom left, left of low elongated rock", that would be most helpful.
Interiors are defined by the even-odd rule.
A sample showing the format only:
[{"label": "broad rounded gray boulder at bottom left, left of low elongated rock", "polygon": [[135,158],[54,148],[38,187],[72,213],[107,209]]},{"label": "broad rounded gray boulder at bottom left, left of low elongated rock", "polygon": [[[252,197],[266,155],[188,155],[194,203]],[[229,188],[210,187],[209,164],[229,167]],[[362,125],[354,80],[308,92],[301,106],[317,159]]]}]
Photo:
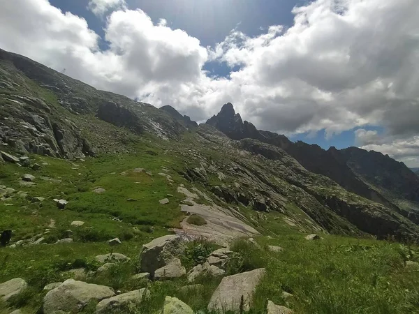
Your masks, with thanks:
[{"label": "broad rounded gray boulder at bottom left, left of low elongated rock", "polygon": [[90,301],[101,301],[114,295],[110,287],[68,279],[45,295],[43,313],[78,313]]}]

